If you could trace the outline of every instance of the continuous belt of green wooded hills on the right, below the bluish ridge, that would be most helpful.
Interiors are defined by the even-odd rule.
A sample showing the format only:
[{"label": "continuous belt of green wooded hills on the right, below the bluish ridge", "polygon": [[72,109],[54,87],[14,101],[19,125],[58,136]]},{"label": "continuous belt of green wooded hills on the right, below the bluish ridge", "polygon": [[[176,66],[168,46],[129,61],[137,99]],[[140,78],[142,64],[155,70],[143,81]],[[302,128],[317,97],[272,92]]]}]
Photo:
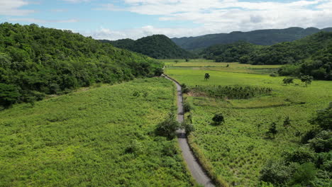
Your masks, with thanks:
[{"label": "continuous belt of green wooded hills on the right, below the bluish ridge", "polygon": [[246,42],[215,45],[201,53],[216,62],[243,64],[287,64],[279,74],[332,80],[332,32],[320,32],[293,42],[257,46]]}]

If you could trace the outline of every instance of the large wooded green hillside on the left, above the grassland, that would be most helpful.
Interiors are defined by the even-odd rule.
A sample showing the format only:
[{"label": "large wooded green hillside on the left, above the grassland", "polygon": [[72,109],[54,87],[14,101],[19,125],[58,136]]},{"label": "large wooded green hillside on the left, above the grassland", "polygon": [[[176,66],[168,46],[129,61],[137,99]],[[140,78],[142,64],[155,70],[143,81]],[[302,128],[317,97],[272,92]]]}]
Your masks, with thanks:
[{"label": "large wooded green hillside on the left, above the grassland", "polygon": [[93,83],[153,77],[161,67],[150,57],[70,30],[0,24],[0,106]]}]

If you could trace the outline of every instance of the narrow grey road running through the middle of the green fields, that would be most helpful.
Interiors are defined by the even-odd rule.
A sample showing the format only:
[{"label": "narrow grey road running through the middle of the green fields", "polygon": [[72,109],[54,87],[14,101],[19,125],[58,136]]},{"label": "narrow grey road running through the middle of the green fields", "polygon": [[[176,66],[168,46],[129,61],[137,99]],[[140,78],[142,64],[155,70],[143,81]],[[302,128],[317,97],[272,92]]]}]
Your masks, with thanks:
[{"label": "narrow grey road running through the middle of the green fields", "polygon": [[[182,98],[182,88],[179,85],[177,81],[174,79],[171,79],[170,77],[167,77],[167,75],[162,74],[163,77],[166,79],[169,79],[177,85],[177,121],[179,123],[182,123],[184,120],[184,111],[183,111],[183,98]],[[196,157],[194,157],[194,154],[192,152],[192,149],[190,149],[187,141],[186,132],[184,130],[177,130],[177,141],[179,142],[179,147],[182,150],[182,157],[184,158],[184,161],[186,162],[190,173],[194,177],[194,179],[203,186],[214,186],[211,179],[209,179],[209,176],[207,176],[199,164]]]}]

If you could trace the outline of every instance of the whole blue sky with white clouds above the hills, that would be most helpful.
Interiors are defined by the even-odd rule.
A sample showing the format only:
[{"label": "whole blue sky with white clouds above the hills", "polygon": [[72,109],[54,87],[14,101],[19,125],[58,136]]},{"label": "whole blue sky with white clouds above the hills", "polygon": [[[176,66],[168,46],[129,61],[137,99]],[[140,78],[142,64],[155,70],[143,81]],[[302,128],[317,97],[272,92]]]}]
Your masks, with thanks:
[{"label": "whole blue sky with white clouds above the hills", "polygon": [[332,27],[332,0],[0,0],[0,23],[95,39],[170,38],[270,28]]}]

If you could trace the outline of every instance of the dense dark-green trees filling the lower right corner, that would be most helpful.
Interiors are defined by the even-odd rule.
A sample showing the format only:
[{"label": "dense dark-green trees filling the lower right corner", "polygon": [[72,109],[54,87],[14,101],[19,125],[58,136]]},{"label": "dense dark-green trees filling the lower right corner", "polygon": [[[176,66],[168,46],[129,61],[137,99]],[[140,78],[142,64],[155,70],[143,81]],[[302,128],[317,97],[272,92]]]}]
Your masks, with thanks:
[{"label": "dense dark-green trees filling the lower right corner", "polygon": [[274,186],[331,186],[331,116],[332,103],[310,120],[315,128],[302,137],[299,148],[284,152],[280,160],[267,162],[260,172],[261,181]]}]

